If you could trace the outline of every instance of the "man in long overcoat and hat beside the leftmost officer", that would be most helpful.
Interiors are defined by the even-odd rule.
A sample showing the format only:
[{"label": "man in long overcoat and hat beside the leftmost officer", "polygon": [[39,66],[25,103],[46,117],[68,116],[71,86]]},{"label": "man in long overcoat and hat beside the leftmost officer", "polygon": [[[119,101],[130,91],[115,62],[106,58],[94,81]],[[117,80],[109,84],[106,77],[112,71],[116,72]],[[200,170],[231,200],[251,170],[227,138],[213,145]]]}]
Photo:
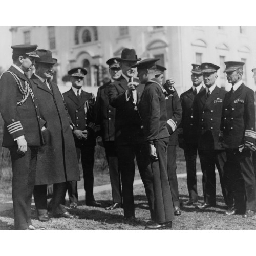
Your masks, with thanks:
[{"label": "man in long overcoat and hat beside the leftmost officer", "polygon": [[42,131],[45,146],[39,148],[37,158],[34,201],[40,221],[49,221],[47,211],[47,184],[53,185],[53,217],[77,218],[69,214],[63,205],[68,181],[80,180],[75,143],[72,136],[72,121],[57,84],[51,81],[53,65],[51,51],[37,50],[40,58],[31,77],[38,98],[40,115],[46,120]]}]

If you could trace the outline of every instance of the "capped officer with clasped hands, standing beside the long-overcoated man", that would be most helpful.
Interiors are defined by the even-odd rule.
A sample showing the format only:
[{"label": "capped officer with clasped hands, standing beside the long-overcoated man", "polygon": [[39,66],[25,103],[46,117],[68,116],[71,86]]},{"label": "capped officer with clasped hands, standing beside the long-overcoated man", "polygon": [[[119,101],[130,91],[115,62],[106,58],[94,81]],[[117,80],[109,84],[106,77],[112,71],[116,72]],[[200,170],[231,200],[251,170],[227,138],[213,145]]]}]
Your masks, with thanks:
[{"label": "capped officer with clasped hands, standing beside the long-overcoated man", "polygon": [[[68,92],[63,93],[63,97],[74,126],[73,136],[78,161],[81,156],[86,205],[99,207],[101,204],[95,201],[93,195],[94,148],[96,144],[93,115],[95,96],[82,90],[83,78],[87,74],[86,69],[74,68],[68,74],[71,76],[72,87]],[[68,191],[71,207],[76,207],[77,182],[70,182]]]}]

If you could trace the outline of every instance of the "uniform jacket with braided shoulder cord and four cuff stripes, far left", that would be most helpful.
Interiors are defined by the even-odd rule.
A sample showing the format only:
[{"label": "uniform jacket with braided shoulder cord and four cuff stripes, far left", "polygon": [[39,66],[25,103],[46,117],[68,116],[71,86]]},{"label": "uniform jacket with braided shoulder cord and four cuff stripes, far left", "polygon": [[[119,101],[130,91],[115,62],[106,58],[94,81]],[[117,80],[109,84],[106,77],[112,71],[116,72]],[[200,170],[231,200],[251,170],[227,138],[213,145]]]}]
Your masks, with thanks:
[{"label": "uniform jacket with braided shoulder cord and four cuff stripes, far left", "polygon": [[37,98],[32,99],[30,94],[22,105],[17,106],[17,102],[23,99],[23,93],[9,72],[14,73],[23,89],[30,84],[29,79],[13,66],[0,78],[0,111],[5,122],[3,146],[17,145],[14,139],[22,135],[28,146],[40,146],[43,144],[41,128],[45,121],[40,118]]}]

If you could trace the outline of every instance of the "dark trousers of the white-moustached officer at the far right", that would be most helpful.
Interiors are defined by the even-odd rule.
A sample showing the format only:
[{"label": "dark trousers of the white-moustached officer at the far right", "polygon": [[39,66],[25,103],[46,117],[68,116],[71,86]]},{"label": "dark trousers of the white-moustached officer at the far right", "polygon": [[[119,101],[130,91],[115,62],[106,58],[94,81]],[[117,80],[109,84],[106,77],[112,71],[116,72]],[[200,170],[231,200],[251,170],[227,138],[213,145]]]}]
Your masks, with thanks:
[{"label": "dark trousers of the white-moustached officer at the far right", "polygon": [[226,150],[227,163],[224,174],[228,198],[233,196],[234,207],[240,211],[256,211],[256,180],[252,163],[252,152]]}]

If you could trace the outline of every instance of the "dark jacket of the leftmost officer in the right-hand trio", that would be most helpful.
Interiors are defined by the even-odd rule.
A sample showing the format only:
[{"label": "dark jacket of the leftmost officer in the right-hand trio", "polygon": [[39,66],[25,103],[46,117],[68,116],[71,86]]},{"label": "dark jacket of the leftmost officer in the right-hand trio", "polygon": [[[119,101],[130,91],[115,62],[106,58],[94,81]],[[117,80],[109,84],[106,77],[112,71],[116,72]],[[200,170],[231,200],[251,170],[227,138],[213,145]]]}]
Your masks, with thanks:
[{"label": "dark jacket of the leftmost officer in the right-hand trio", "polygon": [[[204,88],[201,87],[200,92],[203,90]],[[194,98],[195,94],[192,88],[180,95],[182,119],[179,127],[182,129],[183,138],[187,145],[197,145],[197,127],[193,121]]]}]

